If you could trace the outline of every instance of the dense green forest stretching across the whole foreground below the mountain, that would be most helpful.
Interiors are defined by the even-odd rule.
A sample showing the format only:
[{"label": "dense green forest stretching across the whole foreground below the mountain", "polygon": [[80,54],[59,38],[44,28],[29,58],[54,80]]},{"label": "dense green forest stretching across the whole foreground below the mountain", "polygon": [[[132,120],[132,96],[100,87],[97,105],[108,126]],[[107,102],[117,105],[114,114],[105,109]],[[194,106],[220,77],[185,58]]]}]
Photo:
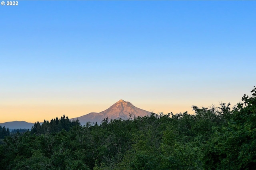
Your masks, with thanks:
[{"label": "dense green forest stretching across the whole foreground below the mountain", "polygon": [[65,115],[36,122],[5,133],[0,170],[256,169],[256,87],[232,108],[192,108],[84,126]]}]

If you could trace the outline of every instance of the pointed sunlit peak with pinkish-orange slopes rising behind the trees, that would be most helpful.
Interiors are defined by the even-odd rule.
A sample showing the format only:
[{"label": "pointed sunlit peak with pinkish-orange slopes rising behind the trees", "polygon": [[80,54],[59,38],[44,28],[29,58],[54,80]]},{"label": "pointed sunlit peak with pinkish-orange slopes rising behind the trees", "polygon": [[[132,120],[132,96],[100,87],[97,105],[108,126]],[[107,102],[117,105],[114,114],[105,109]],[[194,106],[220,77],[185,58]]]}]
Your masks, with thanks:
[{"label": "pointed sunlit peak with pinkish-orange slopes rising behind the trees", "polygon": [[[100,113],[88,113],[86,115],[80,116],[78,117],[81,125],[85,125],[86,122],[93,122],[93,123],[98,123],[100,124],[102,122],[103,119],[105,119],[106,117],[108,117],[109,119],[129,119],[131,114],[131,118],[134,117],[143,117],[146,115],[150,115],[151,112],[140,109],[138,107],[133,106],[130,102],[126,102],[124,100],[119,100],[118,102],[116,102],[115,104],[113,104],[111,107],[109,107],[108,109],[100,112]],[[70,120],[75,120],[77,118],[72,118]]]}]

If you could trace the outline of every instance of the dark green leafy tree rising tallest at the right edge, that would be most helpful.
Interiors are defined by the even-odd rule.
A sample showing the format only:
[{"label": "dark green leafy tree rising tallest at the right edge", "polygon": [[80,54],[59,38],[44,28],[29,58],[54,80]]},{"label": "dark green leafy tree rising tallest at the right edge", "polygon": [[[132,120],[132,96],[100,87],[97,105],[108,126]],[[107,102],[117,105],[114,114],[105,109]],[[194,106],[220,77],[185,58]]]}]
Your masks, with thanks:
[{"label": "dark green leafy tree rising tallest at the right edge", "polygon": [[256,169],[256,87],[234,107],[228,125],[216,129],[206,146],[206,169]]}]

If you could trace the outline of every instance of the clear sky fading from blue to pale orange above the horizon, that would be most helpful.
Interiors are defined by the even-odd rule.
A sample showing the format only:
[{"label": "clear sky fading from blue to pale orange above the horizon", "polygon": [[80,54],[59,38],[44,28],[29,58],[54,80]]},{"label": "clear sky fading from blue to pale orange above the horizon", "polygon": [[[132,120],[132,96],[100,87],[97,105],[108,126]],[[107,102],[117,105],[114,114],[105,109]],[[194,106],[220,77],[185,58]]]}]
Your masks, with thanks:
[{"label": "clear sky fading from blue to pale orange above the horizon", "polygon": [[256,1],[20,0],[0,16],[0,123],[120,99],[193,114],[256,86]]}]

